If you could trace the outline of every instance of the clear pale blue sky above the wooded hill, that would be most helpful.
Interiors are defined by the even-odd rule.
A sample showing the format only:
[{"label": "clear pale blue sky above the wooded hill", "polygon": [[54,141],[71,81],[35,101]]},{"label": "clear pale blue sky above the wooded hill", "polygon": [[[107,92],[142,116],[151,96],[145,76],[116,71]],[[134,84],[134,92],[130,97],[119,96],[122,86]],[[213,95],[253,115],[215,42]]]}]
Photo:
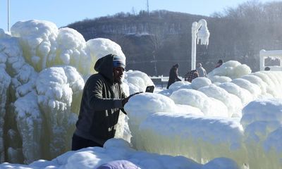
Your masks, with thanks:
[{"label": "clear pale blue sky above the wooded hill", "polygon": [[[149,11],[164,9],[210,15],[235,7],[247,0],[148,0]],[[274,0],[258,0],[261,2]],[[0,0],[0,28],[7,30],[8,0]],[[85,18],[97,18],[118,12],[147,10],[147,0],[10,0],[10,26],[19,20],[49,20],[58,27]]]}]

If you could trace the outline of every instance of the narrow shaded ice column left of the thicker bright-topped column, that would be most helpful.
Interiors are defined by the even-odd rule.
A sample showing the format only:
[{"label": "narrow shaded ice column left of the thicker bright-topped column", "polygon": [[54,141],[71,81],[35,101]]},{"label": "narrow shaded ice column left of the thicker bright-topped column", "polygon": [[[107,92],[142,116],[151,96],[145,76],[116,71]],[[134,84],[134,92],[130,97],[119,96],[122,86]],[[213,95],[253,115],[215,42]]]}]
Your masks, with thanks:
[{"label": "narrow shaded ice column left of the thicker bright-topped column", "polygon": [[[26,106],[30,105],[30,106]],[[37,104],[37,94],[30,92],[15,102],[15,113],[20,137],[23,140],[24,163],[36,161],[44,152],[41,151],[44,130],[43,116]]]}]

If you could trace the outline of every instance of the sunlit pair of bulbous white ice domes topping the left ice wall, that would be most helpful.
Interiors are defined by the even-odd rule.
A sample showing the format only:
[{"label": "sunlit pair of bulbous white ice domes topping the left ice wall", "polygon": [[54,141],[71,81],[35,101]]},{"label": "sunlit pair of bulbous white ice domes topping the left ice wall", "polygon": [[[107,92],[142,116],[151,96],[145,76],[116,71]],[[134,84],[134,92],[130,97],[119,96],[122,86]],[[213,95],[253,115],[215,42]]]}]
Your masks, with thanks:
[{"label": "sunlit pair of bulbous white ice domes topping the left ice wall", "polygon": [[94,61],[86,53],[85,39],[73,29],[59,30],[48,21],[28,20],[13,25],[11,35],[18,37],[25,61],[37,71],[52,65],[73,65],[82,74],[92,70]]}]

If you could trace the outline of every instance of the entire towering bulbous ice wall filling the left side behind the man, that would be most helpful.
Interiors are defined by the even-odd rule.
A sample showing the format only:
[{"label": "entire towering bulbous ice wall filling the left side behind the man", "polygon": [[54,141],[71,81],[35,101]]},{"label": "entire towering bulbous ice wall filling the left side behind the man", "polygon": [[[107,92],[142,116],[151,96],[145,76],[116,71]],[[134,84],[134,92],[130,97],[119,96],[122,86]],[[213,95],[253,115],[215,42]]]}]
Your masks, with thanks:
[{"label": "entire towering bulbous ice wall filling the left side behind the man", "polygon": [[125,58],[121,46],[85,42],[77,31],[42,20],[18,22],[0,37],[0,161],[31,163],[70,150],[84,80],[98,58]]}]

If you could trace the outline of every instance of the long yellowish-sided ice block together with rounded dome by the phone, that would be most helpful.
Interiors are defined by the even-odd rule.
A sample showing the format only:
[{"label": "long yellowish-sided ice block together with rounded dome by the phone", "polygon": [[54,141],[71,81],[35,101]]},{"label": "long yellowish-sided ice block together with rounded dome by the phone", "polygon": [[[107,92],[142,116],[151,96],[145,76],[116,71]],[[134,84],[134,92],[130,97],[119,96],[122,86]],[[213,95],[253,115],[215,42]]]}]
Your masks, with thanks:
[{"label": "long yellowish-sided ice block together with rounded dome by the phone", "polygon": [[177,105],[157,95],[138,94],[125,106],[137,149],[186,156],[198,163],[225,156],[243,164],[243,127],[238,118],[178,113]]}]

